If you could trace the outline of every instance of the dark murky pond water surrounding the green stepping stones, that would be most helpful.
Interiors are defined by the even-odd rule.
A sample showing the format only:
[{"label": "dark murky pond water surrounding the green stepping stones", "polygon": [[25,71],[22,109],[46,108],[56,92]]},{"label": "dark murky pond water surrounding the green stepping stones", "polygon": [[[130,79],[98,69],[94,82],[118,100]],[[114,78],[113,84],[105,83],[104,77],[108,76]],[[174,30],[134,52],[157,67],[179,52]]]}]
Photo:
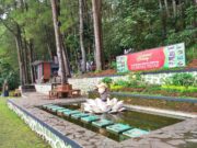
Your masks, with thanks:
[{"label": "dark murky pond water surrounding the green stepping stones", "polygon": [[[69,105],[61,105],[61,106],[66,107],[66,109],[70,109],[70,110],[82,111],[81,104],[77,104],[77,103],[69,104]],[[49,112],[49,111],[47,111],[47,112]],[[56,114],[56,113],[54,113],[54,114]],[[142,129],[146,132],[155,130],[155,129],[159,129],[159,128],[162,128],[162,127],[165,127],[165,126],[169,126],[169,125],[172,125],[172,124],[183,121],[183,119],[178,119],[178,118],[152,115],[152,114],[147,114],[147,113],[134,112],[134,111],[125,111],[125,112],[121,112],[118,114],[102,114],[102,115],[97,115],[97,116],[102,119],[108,119],[114,123],[129,125],[134,128],[139,128],[139,129]],[[123,134],[112,133],[112,132],[107,130],[106,127],[96,127],[92,123],[84,123],[81,119],[74,119],[70,116],[63,116],[63,118],[71,123],[80,125],[86,129],[100,133],[111,139],[116,140],[116,141],[121,141],[121,140],[130,138]]]}]

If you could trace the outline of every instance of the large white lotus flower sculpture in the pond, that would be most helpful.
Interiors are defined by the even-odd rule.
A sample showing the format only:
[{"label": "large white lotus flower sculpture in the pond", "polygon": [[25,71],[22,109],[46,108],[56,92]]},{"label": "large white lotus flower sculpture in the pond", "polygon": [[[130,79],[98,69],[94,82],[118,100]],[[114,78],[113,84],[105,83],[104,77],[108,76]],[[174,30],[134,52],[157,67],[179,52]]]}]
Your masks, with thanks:
[{"label": "large white lotus flower sculpture in the pond", "polygon": [[95,100],[86,100],[85,103],[83,103],[84,105],[84,111],[85,112],[90,112],[90,113],[96,113],[96,114],[101,114],[101,113],[117,113],[117,112],[121,112],[125,110],[125,107],[123,107],[123,101],[118,101],[117,99],[107,99],[106,102],[103,102],[101,99],[95,99]]}]

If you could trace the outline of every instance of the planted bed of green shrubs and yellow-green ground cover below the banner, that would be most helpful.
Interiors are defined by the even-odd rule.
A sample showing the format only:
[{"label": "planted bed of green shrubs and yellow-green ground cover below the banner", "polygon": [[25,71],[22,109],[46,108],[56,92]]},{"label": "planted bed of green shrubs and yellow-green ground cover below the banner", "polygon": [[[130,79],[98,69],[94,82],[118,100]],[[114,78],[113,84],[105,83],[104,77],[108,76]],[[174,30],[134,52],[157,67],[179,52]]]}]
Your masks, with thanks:
[{"label": "planted bed of green shrubs and yellow-green ground cover below the banner", "polygon": [[[107,78],[104,78],[103,82],[106,80]],[[138,72],[130,73],[126,80],[111,81],[109,89],[135,94],[197,98],[197,80],[190,73],[176,73],[164,79],[163,82],[162,86],[149,84]]]}]

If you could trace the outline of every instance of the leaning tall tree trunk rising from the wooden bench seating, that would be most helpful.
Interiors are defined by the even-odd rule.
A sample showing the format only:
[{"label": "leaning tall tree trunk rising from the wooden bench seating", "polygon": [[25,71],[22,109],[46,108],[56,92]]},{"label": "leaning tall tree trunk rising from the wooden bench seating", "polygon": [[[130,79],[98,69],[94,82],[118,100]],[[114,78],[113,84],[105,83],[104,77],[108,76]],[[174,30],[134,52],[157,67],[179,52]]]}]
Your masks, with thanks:
[{"label": "leaning tall tree trunk rising from the wooden bench seating", "polygon": [[57,56],[58,56],[58,62],[59,62],[59,73],[61,77],[61,84],[65,84],[65,83],[68,83],[68,79],[66,75],[63,56],[62,56],[62,46],[60,42],[61,36],[60,36],[59,21],[58,21],[58,14],[57,14],[57,1],[50,0],[50,3],[51,3],[51,10],[53,10],[56,48],[57,48]]}]

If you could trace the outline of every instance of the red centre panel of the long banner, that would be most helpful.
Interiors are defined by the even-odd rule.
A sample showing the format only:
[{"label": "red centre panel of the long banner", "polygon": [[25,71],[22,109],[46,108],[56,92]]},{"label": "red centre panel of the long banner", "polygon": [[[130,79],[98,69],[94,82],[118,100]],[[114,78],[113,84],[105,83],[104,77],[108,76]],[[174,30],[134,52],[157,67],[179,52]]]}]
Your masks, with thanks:
[{"label": "red centre panel of the long banner", "polygon": [[131,71],[159,69],[164,66],[164,47],[130,54],[127,57],[127,66]]}]

